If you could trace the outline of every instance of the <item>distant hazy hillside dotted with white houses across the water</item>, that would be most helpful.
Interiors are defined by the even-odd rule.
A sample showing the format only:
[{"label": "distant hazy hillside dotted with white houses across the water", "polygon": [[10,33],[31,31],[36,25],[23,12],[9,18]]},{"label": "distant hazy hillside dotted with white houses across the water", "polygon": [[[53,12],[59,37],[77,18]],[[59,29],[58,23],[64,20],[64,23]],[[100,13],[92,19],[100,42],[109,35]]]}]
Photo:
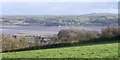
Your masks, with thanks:
[{"label": "distant hazy hillside dotted with white houses across the water", "polygon": [[91,13],[77,16],[3,16],[0,18],[0,23],[44,26],[117,25],[118,16],[112,13]]}]

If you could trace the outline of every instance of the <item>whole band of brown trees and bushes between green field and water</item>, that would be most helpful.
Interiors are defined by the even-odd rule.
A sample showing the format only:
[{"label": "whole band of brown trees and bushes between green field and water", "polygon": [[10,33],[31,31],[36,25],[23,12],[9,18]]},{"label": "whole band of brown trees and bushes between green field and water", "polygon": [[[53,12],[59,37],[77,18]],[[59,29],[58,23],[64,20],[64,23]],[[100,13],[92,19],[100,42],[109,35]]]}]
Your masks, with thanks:
[{"label": "whole band of brown trees and bushes between green field and water", "polygon": [[[15,37],[5,37],[2,35],[2,51],[11,51],[17,49],[24,49],[37,46],[46,46],[53,44],[66,44],[66,43],[78,43],[84,41],[91,41],[91,39],[99,38],[113,38],[120,35],[120,30],[118,27],[107,27],[102,29],[101,32],[91,31],[91,30],[79,30],[79,29],[63,29],[60,30],[57,35],[51,37],[40,37],[31,36],[25,37],[21,36],[19,38]],[[89,43],[89,42],[88,42]],[[58,45],[58,47],[60,46]],[[63,45],[62,45],[63,46]],[[64,45],[65,46],[65,45]]]}]

